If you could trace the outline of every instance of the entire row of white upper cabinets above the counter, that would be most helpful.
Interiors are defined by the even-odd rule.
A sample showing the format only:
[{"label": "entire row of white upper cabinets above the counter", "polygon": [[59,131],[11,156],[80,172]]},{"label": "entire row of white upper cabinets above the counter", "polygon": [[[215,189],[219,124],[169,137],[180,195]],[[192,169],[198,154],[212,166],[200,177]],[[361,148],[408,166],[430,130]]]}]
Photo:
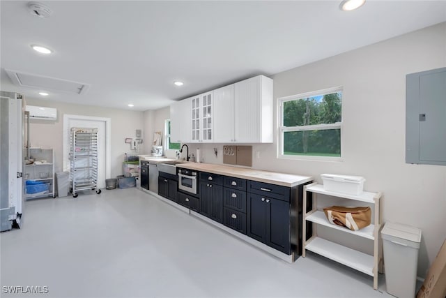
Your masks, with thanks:
[{"label": "entire row of white upper cabinets above the counter", "polygon": [[[271,143],[272,80],[252,77],[171,105],[174,142]],[[179,105],[178,105],[179,104]],[[177,126],[177,114],[185,115]],[[186,123],[186,124],[185,124]],[[179,133],[179,135],[178,135]]]}]

